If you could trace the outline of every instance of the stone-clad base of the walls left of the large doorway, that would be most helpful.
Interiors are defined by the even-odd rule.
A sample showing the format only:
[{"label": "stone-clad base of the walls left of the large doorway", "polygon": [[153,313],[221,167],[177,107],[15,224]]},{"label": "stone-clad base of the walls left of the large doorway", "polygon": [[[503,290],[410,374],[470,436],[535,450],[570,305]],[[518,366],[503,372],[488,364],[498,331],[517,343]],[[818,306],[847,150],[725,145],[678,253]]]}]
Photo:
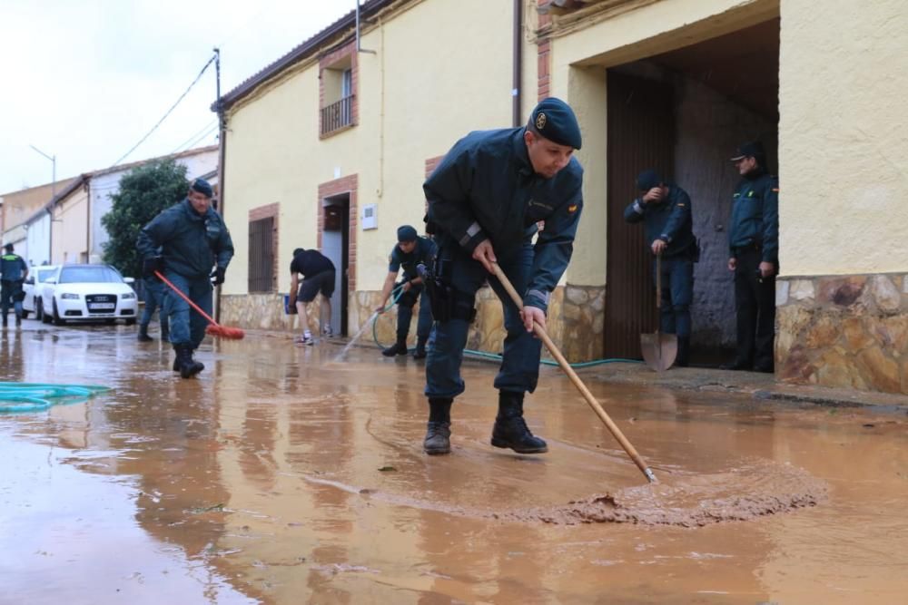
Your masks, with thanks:
[{"label": "stone-clad base of the walls left of the large doorway", "polygon": [[[356,334],[372,316],[378,306],[379,291],[354,292],[348,306],[348,333]],[[487,353],[500,353],[505,339],[504,316],[501,303],[492,288],[481,288],[476,296],[476,320],[470,327],[467,348]],[[548,308],[548,334],[571,363],[590,361],[602,356],[603,309],[605,288],[567,286],[556,288]],[[311,311],[317,313],[311,305]],[[413,309],[410,325],[410,344],[416,341],[416,322],[419,307]],[[318,327],[318,317],[311,321],[312,331]],[[292,332],[298,328],[298,319],[283,311],[282,294],[224,295],[221,298],[221,320],[229,326],[249,329]],[[379,343],[388,346],[394,342],[397,313],[392,309],[381,315],[374,328]],[[372,328],[362,336],[371,341]]]}]

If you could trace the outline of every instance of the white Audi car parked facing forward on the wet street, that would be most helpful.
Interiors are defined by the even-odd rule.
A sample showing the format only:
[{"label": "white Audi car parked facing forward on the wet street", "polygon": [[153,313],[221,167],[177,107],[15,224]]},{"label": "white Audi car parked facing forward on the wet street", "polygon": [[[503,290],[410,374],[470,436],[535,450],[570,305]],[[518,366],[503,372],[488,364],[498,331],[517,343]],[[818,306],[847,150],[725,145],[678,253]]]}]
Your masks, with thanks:
[{"label": "white Audi car parked facing forward on the wet street", "polygon": [[109,265],[61,265],[41,287],[41,320],[62,326],[124,319],[132,326],[139,312],[132,281]]}]

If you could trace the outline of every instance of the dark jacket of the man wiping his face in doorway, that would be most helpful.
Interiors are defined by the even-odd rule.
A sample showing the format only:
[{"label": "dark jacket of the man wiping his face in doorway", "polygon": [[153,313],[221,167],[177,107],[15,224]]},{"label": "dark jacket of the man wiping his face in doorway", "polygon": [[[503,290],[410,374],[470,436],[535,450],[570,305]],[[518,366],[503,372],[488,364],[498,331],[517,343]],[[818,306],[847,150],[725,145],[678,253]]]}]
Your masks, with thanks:
[{"label": "dark jacket of the man wiping his face in doorway", "polygon": [[635,223],[643,220],[646,230],[647,248],[656,239],[668,244],[665,257],[673,257],[682,252],[691,252],[696,244],[691,219],[690,197],[677,185],[668,185],[668,197],[659,202],[644,204],[641,200],[625,209],[625,220]]}]

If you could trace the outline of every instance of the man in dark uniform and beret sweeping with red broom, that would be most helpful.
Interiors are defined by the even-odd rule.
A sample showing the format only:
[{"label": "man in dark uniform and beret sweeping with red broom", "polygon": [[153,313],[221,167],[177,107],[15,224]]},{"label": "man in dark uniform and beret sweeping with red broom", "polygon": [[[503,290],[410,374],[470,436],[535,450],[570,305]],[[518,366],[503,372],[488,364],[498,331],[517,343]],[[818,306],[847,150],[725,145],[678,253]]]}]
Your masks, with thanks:
[{"label": "man in dark uniform and beret sweeping with red broom", "polygon": [[[145,276],[160,271],[208,315],[212,314],[212,283],[223,283],[233,257],[230,232],[212,208],[212,196],[208,182],[192,181],[186,199],[145,225],[136,244]],[[198,374],[205,366],[192,359],[192,352],[205,337],[207,320],[195,311],[191,313],[186,301],[176,294],[164,297],[164,314],[176,353],[173,371],[183,378]]]}]

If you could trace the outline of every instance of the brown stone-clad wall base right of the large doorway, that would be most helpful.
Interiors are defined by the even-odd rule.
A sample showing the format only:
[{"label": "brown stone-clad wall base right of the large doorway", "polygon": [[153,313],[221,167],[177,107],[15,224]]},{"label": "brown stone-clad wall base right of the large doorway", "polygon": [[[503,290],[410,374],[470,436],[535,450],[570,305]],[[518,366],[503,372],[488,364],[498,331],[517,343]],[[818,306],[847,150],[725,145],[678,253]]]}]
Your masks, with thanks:
[{"label": "brown stone-clad wall base right of the large doorway", "polygon": [[908,394],[908,277],[780,278],[775,360],[786,382]]}]

